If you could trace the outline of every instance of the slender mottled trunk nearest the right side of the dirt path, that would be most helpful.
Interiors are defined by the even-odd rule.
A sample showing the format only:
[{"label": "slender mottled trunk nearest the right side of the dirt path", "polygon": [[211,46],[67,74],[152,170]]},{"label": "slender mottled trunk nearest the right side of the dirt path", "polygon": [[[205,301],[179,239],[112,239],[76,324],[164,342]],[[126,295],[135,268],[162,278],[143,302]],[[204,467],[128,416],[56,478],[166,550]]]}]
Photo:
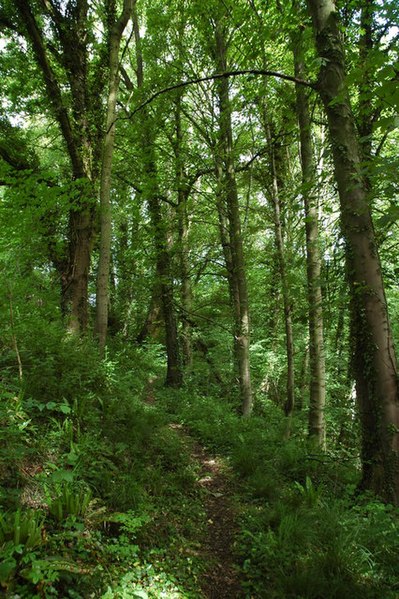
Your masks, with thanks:
[{"label": "slender mottled trunk nearest the right side of the dirt path", "polygon": [[[225,32],[221,22],[216,26],[216,62],[219,72],[227,70],[227,47]],[[234,345],[238,366],[242,413],[249,416],[252,411],[252,390],[249,362],[250,324],[247,280],[241,234],[241,219],[237,184],[234,172],[233,133],[229,83],[227,79],[218,81],[219,98],[219,148],[217,152],[223,160],[223,195],[227,212],[229,246],[231,254],[231,287],[233,290]],[[223,243],[223,240],[222,240]],[[226,254],[225,254],[226,255]],[[226,264],[228,270],[229,266]]]}]

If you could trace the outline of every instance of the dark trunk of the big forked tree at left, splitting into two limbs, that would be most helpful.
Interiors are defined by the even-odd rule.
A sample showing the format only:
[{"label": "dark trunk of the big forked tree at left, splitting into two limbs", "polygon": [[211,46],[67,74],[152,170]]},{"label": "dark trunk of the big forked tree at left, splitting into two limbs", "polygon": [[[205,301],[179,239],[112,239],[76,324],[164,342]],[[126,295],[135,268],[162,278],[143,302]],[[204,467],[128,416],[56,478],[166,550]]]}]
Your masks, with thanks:
[{"label": "dark trunk of the big forked tree at left, splitting into two limbs", "polygon": [[43,74],[52,112],[59,124],[72,167],[72,178],[81,185],[78,207],[69,213],[69,257],[63,273],[61,305],[70,307],[68,328],[84,332],[88,324],[88,276],[94,227],[93,144],[88,120],[87,14],[86,0],[79,0],[70,18],[55,3],[46,3],[61,43],[61,59],[71,89],[72,114],[66,107],[61,84],[49,60],[45,38],[28,0],[16,0],[18,13]]}]

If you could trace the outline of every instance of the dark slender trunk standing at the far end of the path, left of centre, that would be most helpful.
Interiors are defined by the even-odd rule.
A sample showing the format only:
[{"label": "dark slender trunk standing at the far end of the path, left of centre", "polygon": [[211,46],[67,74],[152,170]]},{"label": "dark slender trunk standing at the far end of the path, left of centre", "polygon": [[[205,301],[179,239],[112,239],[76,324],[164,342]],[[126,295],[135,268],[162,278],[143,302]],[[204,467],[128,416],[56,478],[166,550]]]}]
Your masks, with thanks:
[{"label": "dark slender trunk standing at the far end of the path, left of centre", "polygon": [[[141,52],[140,28],[137,19],[136,6],[133,7],[133,27],[136,41],[137,55],[137,86],[143,87],[143,57]],[[162,309],[165,321],[165,342],[167,353],[167,373],[165,384],[168,387],[180,387],[183,382],[181,368],[177,322],[173,301],[173,280],[171,273],[171,260],[168,248],[167,223],[162,215],[160,193],[158,189],[158,175],[154,155],[154,138],[151,131],[148,113],[141,112],[141,130],[143,155],[146,171],[146,196],[154,231],[156,273],[160,283]]]}]

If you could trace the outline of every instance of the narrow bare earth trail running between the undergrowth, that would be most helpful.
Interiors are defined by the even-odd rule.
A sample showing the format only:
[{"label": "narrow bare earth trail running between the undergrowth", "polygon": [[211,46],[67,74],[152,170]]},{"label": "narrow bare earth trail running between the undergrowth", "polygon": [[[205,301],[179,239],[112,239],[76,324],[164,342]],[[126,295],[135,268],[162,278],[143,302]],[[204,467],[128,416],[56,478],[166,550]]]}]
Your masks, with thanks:
[{"label": "narrow bare earth trail running between the undergrowth", "polygon": [[182,425],[172,424],[171,427],[190,444],[191,457],[199,467],[198,485],[205,490],[207,534],[199,552],[209,567],[201,585],[203,596],[207,599],[242,598],[244,593],[239,584],[234,554],[237,525],[232,504],[233,483],[228,467],[220,457],[212,456],[193,441]]}]

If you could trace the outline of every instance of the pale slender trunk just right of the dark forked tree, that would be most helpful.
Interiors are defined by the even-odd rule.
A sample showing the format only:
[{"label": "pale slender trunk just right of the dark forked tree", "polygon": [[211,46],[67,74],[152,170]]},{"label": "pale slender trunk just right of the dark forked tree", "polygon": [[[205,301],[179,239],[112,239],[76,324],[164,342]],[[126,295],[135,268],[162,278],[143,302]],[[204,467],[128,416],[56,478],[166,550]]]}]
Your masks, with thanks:
[{"label": "pale slender trunk just right of the dark forked tree", "polygon": [[111,261],[112,214],[111,172],[115,141],[116,99],[119,87],[119,48],[122,34],[130,19],[133,0],[124,0],[123,11],[113,25],[110,35],[109,91],[107,99],[106,131],[100,179],[100,256],[97,272],[96,323],[100,354],[104,354],[108,329],[109,277]]}]

